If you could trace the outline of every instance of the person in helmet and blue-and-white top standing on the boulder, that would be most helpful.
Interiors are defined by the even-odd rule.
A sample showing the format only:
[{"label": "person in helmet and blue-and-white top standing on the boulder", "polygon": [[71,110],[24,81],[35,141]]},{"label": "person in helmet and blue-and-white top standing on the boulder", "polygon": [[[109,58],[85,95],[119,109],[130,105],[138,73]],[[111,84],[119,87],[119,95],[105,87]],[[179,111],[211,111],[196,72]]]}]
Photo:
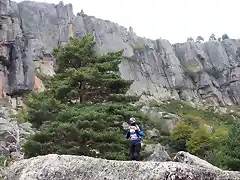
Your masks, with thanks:
[{"label": "person in helmet and blue-and-white top standing on the boulder", "polygon": [[140,150],[142,143],[142,136],[144,136],[144,132],[141,127],[136,124],[136,120],[134,117],[129,119],[130,126],[126,135],[126,138],[130,138],[130,155],[131,160],[140,160]]}]

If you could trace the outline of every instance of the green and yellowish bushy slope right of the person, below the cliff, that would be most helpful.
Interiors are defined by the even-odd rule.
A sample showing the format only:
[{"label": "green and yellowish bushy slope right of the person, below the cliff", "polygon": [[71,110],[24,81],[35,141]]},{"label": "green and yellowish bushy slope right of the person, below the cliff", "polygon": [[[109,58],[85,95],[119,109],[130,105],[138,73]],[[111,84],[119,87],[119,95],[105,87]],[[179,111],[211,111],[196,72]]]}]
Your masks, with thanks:
[{"label": "green and yellowish bushy slope right of the person, below the cliff", "polygon": [[[170,101],[158,107],[181,118],[168,140],[174,152],[188,151],[222,169],[239,170],[240,153],[236,144],[240,141],[240,127],[236,113],[218,114],[182,101]],[[211,132],[205,125],[214,130]]]}]

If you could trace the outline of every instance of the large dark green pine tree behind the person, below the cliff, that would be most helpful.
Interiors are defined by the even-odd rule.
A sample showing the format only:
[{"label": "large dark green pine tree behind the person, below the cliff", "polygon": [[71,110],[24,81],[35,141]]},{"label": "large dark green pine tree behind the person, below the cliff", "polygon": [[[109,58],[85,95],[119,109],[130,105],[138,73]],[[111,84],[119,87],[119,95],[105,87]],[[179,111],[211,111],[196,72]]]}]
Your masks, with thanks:
[{"label": "large dark green pine tree behind the person, below the cliff", "polygon": [[56,75],[45,77],[47,90],[27,98],[27,120],[39,132],[24,145],[26,157],[49,153],[129,159],[122,123],[135,116],[145,127],[140,107],[125,96],[132,81],[121,79],[122,52],[97,55],[94,39],[71,38],[54,49]]}]

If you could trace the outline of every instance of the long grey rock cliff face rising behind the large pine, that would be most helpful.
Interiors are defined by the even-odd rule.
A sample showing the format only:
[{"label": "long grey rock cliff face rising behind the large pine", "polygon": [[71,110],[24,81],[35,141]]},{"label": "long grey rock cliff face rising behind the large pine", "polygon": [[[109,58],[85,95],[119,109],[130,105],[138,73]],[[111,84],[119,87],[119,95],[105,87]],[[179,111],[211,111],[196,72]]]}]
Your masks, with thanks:
[{"label": "long grey rock cliff face rising behind the large pine", "polygon": [[71,4],[9,0],[0,0],[2,97],[41,89],[35,69],[52,75],[53,47],[86,33],[95,36],[100,53],[124,49],[120,70],[135,80],[130,92],[217,106],[240,103],[240,40],[171,45],[83,12],[74,15]]}]

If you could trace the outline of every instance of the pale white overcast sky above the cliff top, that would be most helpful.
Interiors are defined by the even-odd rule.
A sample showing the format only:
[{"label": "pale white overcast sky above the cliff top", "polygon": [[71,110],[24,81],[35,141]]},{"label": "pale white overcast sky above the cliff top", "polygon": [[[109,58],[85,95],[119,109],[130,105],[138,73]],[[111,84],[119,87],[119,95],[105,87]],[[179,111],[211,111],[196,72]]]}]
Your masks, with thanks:
[{"label": "pale white overcast sky above the cliff top", "polygon": [[[17,0],[20,1],[20,0]],[[58,3],[59,0],[36,0]],[[73,10],[132,26],[139,36],[185,42],[201,35],[207,40],[227,33],[240,38],[240,0],[63,0]]]}]

